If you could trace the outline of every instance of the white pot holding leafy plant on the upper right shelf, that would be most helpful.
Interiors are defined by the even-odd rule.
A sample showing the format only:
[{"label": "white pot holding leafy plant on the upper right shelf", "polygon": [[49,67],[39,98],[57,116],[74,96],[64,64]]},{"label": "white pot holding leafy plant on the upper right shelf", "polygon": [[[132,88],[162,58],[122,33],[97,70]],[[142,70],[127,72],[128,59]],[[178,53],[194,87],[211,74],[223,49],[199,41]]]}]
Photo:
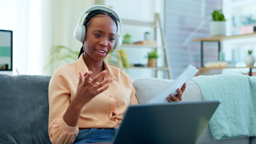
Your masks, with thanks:
[{"label": "white pot holding leafy plant on the upper right shelf", "polygon": [[211,21],[210,22],[210,36],[226,35],[226,22],[225,21]]}]

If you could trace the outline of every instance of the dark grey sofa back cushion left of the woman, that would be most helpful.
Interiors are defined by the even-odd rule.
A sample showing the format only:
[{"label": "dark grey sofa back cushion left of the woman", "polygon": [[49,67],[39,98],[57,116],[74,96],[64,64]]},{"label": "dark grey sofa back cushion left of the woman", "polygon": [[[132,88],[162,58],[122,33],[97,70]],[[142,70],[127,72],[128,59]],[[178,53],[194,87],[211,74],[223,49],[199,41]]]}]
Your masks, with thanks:
[{"label": "dark grey sofa back cushion left of the woman", "polygon": [[50,76],[0,74],[0,143],[50,143]]}]

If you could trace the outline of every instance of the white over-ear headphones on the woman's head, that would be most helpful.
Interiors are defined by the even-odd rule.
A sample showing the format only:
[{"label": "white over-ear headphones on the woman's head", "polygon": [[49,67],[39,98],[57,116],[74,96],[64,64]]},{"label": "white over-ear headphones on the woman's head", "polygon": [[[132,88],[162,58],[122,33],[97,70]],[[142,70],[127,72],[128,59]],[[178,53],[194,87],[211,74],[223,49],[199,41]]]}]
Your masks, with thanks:
[{"label": "white over-ear headphones on the woman's head", "polygon": [[118,47],[120,47],[122,44],[122,38],[121,38],[122,22],[121,22],[121,19],[119,18],[118,14],[115,13],[115,11],[113,9],[106,7],[104,5],[92,5],[88,9],[84,10],[84,12],[82,13],[82,15],[79,18],[77,27],[75,27],[75,29],[74,29],[74,38],[81,42],[84,41],[86,29],[85,29],[85,26],[81,22],[82,22],[83,16],[87,13],[90,13],[93,10],[107,11],[109,13],[112,13],[114,15],[115,19],[117,19],[118,31],[117,31],[117,36],[115,38],[115,44],[114,44],[113,49],[117,49]]}]

